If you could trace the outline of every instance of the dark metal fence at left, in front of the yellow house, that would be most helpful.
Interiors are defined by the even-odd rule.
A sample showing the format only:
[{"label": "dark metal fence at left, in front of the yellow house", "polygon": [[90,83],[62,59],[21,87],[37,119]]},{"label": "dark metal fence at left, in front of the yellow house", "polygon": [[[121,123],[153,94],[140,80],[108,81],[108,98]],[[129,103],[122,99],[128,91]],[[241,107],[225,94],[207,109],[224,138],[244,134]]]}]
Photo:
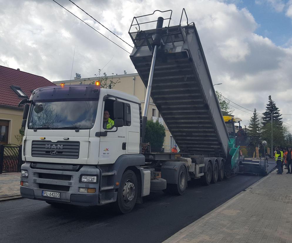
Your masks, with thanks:
[{"label": "dark metal fence at left, in front of the yellow house", "polygon": [[23,164],[21,146],[16,144],[0,144],[0,174],[3,172],[20,172]]}]

